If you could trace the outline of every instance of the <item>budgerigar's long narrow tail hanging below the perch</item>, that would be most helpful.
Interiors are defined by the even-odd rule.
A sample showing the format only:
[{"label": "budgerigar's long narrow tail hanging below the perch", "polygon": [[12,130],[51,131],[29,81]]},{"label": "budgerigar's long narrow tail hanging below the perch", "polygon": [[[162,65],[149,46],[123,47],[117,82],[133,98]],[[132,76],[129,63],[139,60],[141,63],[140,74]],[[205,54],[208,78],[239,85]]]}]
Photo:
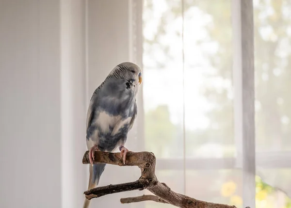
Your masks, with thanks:
[{"label": "budgerigar's long narrow tail hanging below the perch", "polygon": [[[104,171],[105,165],[106,164],[104,163],[97,163],[97,164],[94,164],[93,166],[89,164],[90,176],[89,176],[88,190],[94,189],[97,187],[100,176]],[[89,208],[90,201],[91,200],[85,199],[83,208]]]}]

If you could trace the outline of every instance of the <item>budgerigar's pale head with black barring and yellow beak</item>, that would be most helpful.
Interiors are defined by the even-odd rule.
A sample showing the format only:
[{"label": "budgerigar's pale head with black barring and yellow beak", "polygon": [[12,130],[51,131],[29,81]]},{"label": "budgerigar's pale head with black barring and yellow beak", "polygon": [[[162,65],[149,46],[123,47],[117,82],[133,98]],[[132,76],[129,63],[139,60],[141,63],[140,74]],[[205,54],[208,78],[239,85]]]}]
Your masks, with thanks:
[{"label": "budgerigar's pale head with black barring and yellow beak", "polygon": [[141,68],[131,62],[124,62],[118,64],[109,74],[115,78],[122,78],[132,80],[137,86],[142,83],[142,70]]}]

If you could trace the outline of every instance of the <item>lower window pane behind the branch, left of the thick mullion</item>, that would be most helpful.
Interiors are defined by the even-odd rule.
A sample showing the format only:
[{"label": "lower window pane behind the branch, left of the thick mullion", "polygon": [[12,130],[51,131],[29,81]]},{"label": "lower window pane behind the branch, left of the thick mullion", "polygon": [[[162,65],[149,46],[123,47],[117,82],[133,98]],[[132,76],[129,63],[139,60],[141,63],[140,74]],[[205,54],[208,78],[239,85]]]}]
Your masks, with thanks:
[{"label": "lower window pane behind the branch, left of the thick mullion", "polygon": [[[162,170],[157,171],[161,182],[166,183],[174,192],[179,190],[176,176],[183,176],[183,171]],[[240,170],[205,170],[187,171],[186,194],[199,200],[224,203],[242,208],[242,174]],[[146,192],[150,194],[150,192]],[[146,208],[170,208],[156,202],[146,202]]]}]

